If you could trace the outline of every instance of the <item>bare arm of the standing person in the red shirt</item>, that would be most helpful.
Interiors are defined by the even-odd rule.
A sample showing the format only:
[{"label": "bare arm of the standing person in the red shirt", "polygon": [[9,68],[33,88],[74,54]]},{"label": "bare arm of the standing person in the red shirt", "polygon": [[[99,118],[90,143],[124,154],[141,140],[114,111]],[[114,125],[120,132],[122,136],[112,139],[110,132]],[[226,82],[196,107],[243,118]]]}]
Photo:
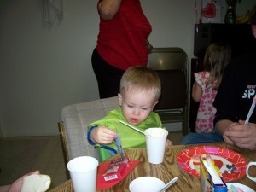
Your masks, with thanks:
[{"label": "bare arm of the standing person in the red shirt", "polygon": [[98,3],[98,12],[103,20],[112,20],[118,12],[122,0],[102,0]]}]

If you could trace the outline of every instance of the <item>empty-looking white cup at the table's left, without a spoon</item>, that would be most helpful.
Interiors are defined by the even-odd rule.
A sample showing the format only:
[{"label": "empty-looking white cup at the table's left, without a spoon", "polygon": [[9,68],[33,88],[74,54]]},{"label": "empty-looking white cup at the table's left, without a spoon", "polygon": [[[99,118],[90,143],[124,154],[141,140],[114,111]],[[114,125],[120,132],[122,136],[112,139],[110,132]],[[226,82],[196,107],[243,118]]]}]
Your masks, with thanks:
[{"label": "empty-looking white cup at the table's left, without a spoon", "polygon": [[98,165],[98,160],[90,156],[77,157],[67,163],[75,192],[96,192]]}]

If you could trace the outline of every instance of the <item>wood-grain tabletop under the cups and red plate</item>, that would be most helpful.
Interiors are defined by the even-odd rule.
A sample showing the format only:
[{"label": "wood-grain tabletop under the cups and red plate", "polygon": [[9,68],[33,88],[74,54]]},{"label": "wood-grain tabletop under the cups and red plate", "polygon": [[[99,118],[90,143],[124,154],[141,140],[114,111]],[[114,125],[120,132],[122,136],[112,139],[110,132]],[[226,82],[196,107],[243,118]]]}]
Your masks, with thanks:
[{"label": "wood-grain tabletop under the cups and red plate", "polygon": [[[229,148],[236,151],[236,153],[241,154],[247,162],[256,161],[256,151],[246,150],[237,148],[235,146],[230,146],[227,143],[209,143],[204,145],[216,146],[220,148]],[[184,172],[183,169],[177,164],[177,154],[185,148],[195,147],[197,145],[176,145],[171,148],[166,149],[165,160],[159,165],[154,165],[148,163],[146,148],[131,148],[126,149],[125,154],[130,157],[131,160],[140,160],[141,162],[137,167],[127,176],[123,181],[115,185],[111,189],[97,190],[97,192],[113,192],[113,191],[129,191],[129,183],[137,177],[151,176],[158,177],[165,183],[169,182],[173,177],[178,177],[177,182],[172,185],[166,192],[200,192],[200,178],[189,175],[189,173]],[[119,158],[119,154],[113,156],[111,159]],[[250,169],[250,174],[256,177],[255,166]],[[242,183],[248,187],[256,190],[256,183],[248,179],[246,176],[234,181],[236,183]],[[66,183],[62,183],[55,189],[50,190],[50,192],[65,192],[73,191],[71,180]]]}]

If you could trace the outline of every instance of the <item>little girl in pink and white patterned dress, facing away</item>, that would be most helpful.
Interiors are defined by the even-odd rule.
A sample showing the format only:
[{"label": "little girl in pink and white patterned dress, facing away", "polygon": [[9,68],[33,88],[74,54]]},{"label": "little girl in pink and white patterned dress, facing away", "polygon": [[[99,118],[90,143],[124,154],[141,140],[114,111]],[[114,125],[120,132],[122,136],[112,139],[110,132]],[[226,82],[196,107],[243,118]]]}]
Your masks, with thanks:
[{"label": "little girl in pink and white patterned dress, facing away", "polygon": [[192,97],[199,103],[195,131],[214,132],[213,119],[216,109],[212,102],[218,91],[224,69],[231,60],[231,47],[229,44],[213,43],[207,48],[204,57],[205,71],[195,73],[195,83],[192,88]]}]

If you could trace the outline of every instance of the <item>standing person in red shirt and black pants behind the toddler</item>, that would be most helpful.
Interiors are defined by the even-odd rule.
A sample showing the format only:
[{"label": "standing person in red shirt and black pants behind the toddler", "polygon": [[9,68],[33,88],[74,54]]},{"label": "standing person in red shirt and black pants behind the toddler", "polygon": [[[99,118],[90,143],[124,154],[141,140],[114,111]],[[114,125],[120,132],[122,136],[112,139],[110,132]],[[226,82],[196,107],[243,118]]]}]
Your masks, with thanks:
[{"label": "standing person in red shirt and black pants behind the toddler", "polygon": [[146,66],[152,30],[139,0],[99,0],[100,31],[91,63],[100,98],[117,96],[120,79],[133,66]]}]

